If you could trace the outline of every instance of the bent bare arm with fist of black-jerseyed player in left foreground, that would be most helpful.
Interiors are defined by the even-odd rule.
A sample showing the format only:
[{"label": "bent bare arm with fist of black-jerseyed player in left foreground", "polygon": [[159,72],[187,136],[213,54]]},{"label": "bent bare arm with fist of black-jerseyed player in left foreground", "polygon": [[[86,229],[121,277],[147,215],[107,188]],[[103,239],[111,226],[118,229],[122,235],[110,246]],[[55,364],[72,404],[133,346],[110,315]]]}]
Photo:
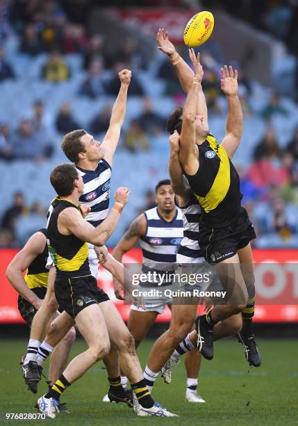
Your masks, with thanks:
[{"label": "bent bare arm with fist of black-jerseyed player in left foreground", "polygon": [[94,228],[85,221],[80,212],[74,207],[67,207],[58,216],[58,230],[62,235],[74,234],[83,241],[95,246],[104,246],[106,240],[112,235],[121,216],[121,211],[126,205],[130,191],[120,187],[115,193],[115,205],[110,210],[106,219]]}]

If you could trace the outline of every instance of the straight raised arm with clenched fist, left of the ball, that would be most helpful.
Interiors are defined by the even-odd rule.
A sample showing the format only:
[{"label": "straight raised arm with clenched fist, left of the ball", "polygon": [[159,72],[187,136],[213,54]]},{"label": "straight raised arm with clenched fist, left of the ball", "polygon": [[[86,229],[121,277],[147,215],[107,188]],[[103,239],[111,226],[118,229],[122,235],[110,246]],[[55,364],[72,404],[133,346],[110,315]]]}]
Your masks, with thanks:
[{"label": "straight raised arm with clenched fist, left of the ball", "polygon": [[108,132],[106,132],[104,141],[101,144],[102,148],[104,148],[104,158],[108,161],[110,166],[112,166],[113,155],[117,148],[121,127],[126,113],[127,90],[129,89],[129,84],[131,82],[131,71],[122,70],[118,73],[118,75],[121,81],[121,86],[113,106]]}]

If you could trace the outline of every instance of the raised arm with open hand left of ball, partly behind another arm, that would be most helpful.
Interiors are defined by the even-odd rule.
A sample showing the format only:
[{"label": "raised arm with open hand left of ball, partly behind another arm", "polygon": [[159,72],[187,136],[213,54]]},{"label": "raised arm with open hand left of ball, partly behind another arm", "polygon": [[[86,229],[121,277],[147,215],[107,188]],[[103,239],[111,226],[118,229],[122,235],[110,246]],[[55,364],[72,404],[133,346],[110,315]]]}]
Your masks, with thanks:
[{"label": "raised arm with open hand left of ball, partly behind another arm", "polygon": [[[176,72],[183,90],[185,93],[188,93],[192,87],[194,72],[188,63],[186,63],[176,51],[173,43],[169,40],[169,34],[167,31],[165,31],[163,28],[160,28],[156,35],[156,40],[158,43],[158,49],[160,49],[161,52],[167,54],[169,60],[176,68]],[[208,125],[208,111],[203,90],[199,90],[199,96],[197,100],[197,114],[204,116],[204,121],[206,125]]]}]

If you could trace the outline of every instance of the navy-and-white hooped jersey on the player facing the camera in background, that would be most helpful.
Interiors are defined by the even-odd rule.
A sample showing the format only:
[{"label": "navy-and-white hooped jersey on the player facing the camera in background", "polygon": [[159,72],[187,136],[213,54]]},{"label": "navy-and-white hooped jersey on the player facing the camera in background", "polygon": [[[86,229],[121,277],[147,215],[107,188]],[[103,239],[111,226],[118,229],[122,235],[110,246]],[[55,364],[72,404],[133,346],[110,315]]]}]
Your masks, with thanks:
[{"label": "navy-and-white hooped jersey on the player facing the camera in background", "polygon": [[165,221],[157,207],[144,212],[147,221],[146,233],[140,238],[143,265],[154,268],[156,263],[176,262],[176,251],[183,237],[183,221],[180,209],[171,222]]}]

